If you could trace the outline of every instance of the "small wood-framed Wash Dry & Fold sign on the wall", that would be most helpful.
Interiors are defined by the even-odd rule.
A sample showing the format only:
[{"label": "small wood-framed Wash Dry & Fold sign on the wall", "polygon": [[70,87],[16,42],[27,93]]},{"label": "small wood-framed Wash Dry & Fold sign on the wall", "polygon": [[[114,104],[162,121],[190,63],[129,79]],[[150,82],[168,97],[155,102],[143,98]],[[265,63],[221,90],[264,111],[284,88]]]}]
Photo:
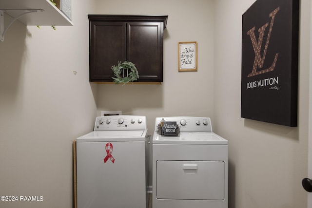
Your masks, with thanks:
[{"label": "small wood-framed Wash Dry & Fold sign on the wall", "polygon": [[179,42],[179,72],[197,71],[197,42]]}]

